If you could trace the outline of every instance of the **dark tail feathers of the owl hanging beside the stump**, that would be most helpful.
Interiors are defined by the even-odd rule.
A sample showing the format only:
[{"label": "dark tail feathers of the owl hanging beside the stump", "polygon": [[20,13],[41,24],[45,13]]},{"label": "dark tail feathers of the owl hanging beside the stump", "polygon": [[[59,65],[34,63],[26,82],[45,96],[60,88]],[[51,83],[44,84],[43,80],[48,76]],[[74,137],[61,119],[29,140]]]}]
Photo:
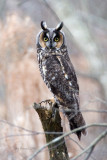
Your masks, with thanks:
[{"label": "dark tail feathers of the owl hanging beside the stump", "polygon": [[[73,129],[76,129],[76,128],[79,128],[79,127],[82,127],[82,126],[85,126],[85,121],[84,121],[84,118],[81,114],[81,112],[78,112],[76,115],[72,115],[71,116],[71,113],[70,112],[67,112],[66,113],[66,116],[68,118],[68,121],[69,121],[69,125],[70,125],[70,129],[73,130]],[[81,139],[81,134],[84,134],[86,135],[86,129],[82,129],[82,130],[79,130],[76,132],[76,135],[77,137],[79,138],[79,140]]]}]

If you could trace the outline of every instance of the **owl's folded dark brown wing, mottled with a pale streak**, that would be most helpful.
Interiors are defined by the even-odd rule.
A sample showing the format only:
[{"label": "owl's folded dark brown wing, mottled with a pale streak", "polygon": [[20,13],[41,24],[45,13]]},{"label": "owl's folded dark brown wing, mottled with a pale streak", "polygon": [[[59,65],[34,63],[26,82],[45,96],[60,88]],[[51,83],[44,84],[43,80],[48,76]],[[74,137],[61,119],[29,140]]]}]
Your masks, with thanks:
[{"label": "owl's folded dark brown wing, mottled with a pale streak", "polygon": [[63,56],[51,56],[46,61],[46,80],[54,95],[69,101],[77,99],[79,86],[72,64]]}]

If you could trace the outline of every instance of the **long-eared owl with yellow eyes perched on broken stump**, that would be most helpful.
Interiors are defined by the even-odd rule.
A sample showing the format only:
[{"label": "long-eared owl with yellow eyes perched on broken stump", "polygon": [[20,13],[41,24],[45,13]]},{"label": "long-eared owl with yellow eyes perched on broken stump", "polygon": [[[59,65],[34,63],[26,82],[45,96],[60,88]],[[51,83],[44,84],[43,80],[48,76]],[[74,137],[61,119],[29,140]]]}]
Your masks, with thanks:
[{"label": "long-eared owl with yellow eyes perched on broken stump", "polygon": [[[42,30],[37,35],[37,58],[41,76],[52,92],[55,102],[61,106],[68,118],[70,129],[84,126],[79,110],[79,86],[74,67],[68,55],[65,35],[61,31],[63,22],[56,28],[48,28],[41,22]],[[77,131],[78,138],[86,130]]]}]

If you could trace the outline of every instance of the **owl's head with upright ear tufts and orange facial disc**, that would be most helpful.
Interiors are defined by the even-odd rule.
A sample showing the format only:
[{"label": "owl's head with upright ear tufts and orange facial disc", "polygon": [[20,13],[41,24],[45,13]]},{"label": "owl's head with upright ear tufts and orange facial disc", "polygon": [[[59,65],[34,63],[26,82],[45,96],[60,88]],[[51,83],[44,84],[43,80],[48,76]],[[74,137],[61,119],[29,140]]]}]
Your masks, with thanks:
[{"label": "owl's head with upright ear tufts and orange facial disc", "polygon": [[42,21],[42,31],[37,36],[37,47],[51,51],[59,50],[65,44],[62,27],[63,22],[59,23],[56,28],[48,28],[46,22]]}]

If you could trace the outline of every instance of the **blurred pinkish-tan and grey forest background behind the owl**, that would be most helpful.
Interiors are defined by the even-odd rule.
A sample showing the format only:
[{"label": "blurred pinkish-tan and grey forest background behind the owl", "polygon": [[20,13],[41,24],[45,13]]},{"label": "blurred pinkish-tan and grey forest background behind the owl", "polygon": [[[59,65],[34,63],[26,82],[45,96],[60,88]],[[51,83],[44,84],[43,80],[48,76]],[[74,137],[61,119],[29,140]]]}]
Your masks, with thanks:
[{"label": "blurred pinkish-tan and grey forest background behind the owl", "polygon": [[[64,22],[71,61],[80,86],[81,110],[87,124],[107,122],[107,1],[0,0],[0,159],[26,160],[45,144],[32,104],[50,98],[36,58],[40,22]],[[63,117],[64,131],[69,131]],[[87,129],[80,142],[66,138],[69,156],[80,153],[105,128]],[[38,132],[38,134],[36,133]],[[75,141],[73,141],[74,139]],[[81,147],[82,146],[82,147]],[[47,160],[48,149],[35,160]],[[84,156],[78,158],[83,160]],[[89,160],[107,160],[107,137]]]}]

